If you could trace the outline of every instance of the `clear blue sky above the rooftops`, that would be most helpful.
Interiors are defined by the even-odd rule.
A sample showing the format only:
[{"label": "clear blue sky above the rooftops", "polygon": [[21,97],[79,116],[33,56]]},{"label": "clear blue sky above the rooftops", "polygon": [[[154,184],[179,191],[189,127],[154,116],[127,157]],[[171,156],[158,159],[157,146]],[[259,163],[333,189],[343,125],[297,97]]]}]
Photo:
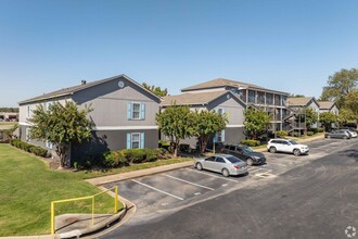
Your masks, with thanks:
[{"label": "clear blue sky above the rooftops", "polygon": [[358,1],[0,0],[0,106],[126,74],[181,88],[223,77],[319,97],[358,67]]}]

